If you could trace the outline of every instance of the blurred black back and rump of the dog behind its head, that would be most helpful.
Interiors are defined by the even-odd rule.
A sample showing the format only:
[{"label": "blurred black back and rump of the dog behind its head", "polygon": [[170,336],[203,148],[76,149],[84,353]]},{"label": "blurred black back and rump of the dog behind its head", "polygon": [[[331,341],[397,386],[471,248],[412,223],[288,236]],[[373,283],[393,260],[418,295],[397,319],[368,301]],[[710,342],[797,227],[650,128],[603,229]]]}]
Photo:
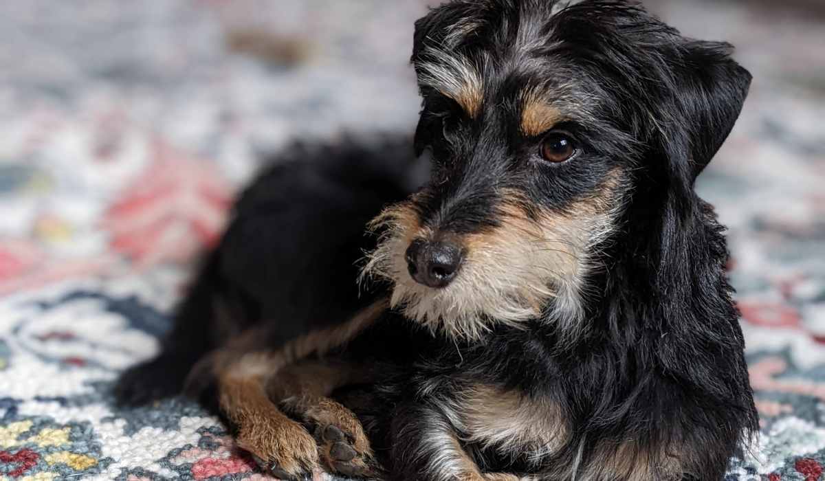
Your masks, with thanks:
[{"label": "blurred black back and rump of the dog behind its head", "polygon": [[161,354],[121,377],[121,403],[180,393],[197,361],[252,327],[255,342],[277,349],[343,323],[381,290],[359,292],[355,282],[375,246],[365,225],[427,179],[429,163],[415,158],[412,141],[296,145],[273,164],[240,196]]}]

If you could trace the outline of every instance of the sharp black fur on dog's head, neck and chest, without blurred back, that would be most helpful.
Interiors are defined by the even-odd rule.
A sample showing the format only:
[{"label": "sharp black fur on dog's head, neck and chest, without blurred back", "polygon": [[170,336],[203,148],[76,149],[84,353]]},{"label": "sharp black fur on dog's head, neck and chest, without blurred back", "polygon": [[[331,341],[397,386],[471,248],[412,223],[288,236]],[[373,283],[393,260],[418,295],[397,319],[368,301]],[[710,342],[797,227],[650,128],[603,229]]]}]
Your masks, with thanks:
[{"label": "sharp black fur on dog's head, neck and chest, without blurred back", "polygon": [[[443,49],[456,22],[475,16],[482,26],[454,49],[476,64],[488,56],[485,89],[499,96],[485,92],[485,103],[496,106],[487,106],[479,122],[422,89],[417,146],[436,153],[434,176],[443,182],[425,186],[419,210],[424,219],[443,218],[444,205],[455,205],[469,182],[473,196],[465,201],[481,212],[490,200],[479,194],[487,189],[492,196],[502,184],[528,192],[536,204],[563,208],[611,167],[632,172],[617,228],[596,253],[604,268],[587,280],[579,319],[587,329],[576,342],[559,342],[554,324],[540,319],[526,329],[497,328],[483,342],[431,347],[401,376],[413,382],[385,384],[395,409],[391,422],[377,424],[426,431],[433,417],[446,422],[441,406],[450,398],[474,383],[497,384],[552,399],[573,424],[567,445],[542,468],[584,470],[600,441],[634,440],[643,449],[686,446],[694,459],[684,479],[722,479],[730,456],[757,430],[757,413],[724,276],[722,228],[693,183],[732,129],[751,77],[728,57],[728,45],[686,40],[639,7],[586,1],[553,16],[550,3],[454,2],[417,22],[413,62],[426,46]],[[519,51],[515,31],[532,16],[540,17],[547,39]],[[564,125],[584,145],[575,164],[525,176],[535,140],[519,138],[512,122],[495,116],[512,101],[512,89],[536,79],[573,83],[573,92],[589,92],[599,106],[595,119]],[[445,109],[460,118],[457,143],[429,125]],[[460,230],[489,222],[464,205],[455,211],[472,213]],[[421,451],[426,439],[393,434],[386,436],[400,478],[441,479],[424,457],[405,455]],[[465,448],[487,470],[535,469],[517,456]]]}]

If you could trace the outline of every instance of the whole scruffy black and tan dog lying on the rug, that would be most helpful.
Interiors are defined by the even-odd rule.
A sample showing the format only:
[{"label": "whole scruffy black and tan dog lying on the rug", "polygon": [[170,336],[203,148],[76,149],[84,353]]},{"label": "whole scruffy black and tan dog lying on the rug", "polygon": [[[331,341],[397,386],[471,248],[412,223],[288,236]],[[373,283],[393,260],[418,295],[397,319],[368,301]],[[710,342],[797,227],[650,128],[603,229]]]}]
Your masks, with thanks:
[{"label": "whole scruffy black and tan dog lying on the rug", "polygon": [[413,43],[413,142],[253,184],[120,397],[186,384],[282,479],[723,479],[757,412],[693,187],[750,74],[621,0],[454,0]]}]

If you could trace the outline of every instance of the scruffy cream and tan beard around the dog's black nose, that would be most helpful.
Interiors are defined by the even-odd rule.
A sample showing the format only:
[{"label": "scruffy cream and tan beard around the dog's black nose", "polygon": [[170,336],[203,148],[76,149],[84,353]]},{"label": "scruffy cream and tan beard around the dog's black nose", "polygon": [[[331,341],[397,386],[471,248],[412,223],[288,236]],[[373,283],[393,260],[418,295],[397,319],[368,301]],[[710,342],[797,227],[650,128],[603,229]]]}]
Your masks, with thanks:
[{"label": "scruffy cream and tan beard around the dog's black nose", "polygon": [[[507,198],[507,197],[505,197]],[[612,229],[606,202],[592,199],[563,214],[531,219],[516,203],[499,205],[500,225],[462,236],[466,251],[455,280],[433,289],[413,280],[404,252],[422,228],[412,203],[389,207],[372,221],[381,232],[361,277],[394,285],[390,305],[432,331],[474,340],[496,324],[521,327],[531,319],[555,321],[563,337],[582,328],[582,279],[592,251]]]}]

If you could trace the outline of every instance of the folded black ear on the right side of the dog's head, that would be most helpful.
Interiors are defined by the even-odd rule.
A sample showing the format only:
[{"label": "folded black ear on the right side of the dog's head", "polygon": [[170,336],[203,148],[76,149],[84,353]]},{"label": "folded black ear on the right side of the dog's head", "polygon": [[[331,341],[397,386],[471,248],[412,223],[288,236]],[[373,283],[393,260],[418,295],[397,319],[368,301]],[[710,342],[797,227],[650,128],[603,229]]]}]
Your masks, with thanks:
[{"label": "folded black ear on the right side of the dog's head", "polygon": [[668,157],[679,159],[672,168],[692,183],[733,129],[751,74],[730,58],[730,45],[689,40],[680,47],[672,65],[675,105],[660,109],[664,125],[654,122],[665,137]]}]

